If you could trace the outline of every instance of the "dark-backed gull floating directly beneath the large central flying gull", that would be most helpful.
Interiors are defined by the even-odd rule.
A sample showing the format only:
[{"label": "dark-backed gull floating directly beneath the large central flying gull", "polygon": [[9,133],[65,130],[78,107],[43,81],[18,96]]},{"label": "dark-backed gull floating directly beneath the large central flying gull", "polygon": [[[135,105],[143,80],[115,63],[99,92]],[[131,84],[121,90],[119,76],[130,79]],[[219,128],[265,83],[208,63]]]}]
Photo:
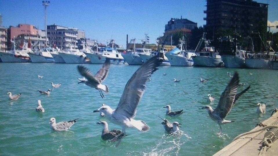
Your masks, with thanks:
[{"label": "dark-backed gull floating directly beneath the large central flying gull", "polygon": [[[101,121],[97,122],[96,124],[102,125],[102,133],[101,133],[101,139],[106,141],[106,140],[111,140],[115,138],[117,135],[121,134],[122,131],[118,129],[112,129],[111,131],[108,130],[108,124],[106,121]],[[124,134],[122,133],[121,135],[118,136],[118,139],[122,138]]]}]

